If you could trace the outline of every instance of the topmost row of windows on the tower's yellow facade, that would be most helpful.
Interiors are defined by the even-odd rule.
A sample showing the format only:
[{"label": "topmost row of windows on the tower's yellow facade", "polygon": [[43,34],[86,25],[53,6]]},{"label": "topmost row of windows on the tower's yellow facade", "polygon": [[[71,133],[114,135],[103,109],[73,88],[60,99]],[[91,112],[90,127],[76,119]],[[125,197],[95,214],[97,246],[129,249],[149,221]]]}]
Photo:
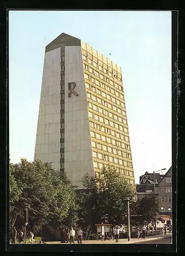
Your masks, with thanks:
[{"label": "topmost row of windows on the tower's yellow facade", "polygon": [[[86,55],[86,53],[85,53]],[[83,55],[83,59],[87,62],[89,62],[92,66],[96,67],[97,69],[101,70],[105,74],[109,75],[110,77],[114,77],[120,81],[122,81],[121,74],[117,72],[116,70],[113,70],[111,67],[109,67],[107,64],[103,64],[101,60],[98,60],[96,57],[94,57],[94,61],[92,60],[91,54],[88,54],[87,56]],[[87,65],[86,65],[87,66]]]}]

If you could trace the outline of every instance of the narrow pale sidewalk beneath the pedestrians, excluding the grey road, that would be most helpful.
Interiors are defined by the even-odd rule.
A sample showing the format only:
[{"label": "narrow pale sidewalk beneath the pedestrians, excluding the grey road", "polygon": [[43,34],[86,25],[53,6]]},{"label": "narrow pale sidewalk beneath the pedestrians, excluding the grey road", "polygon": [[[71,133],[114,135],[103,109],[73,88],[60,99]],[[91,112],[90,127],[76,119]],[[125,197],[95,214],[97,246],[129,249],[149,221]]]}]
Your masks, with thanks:
[{"label": "narrow pale sidewalk beneath the pedestrians, excluding the grey road", "polygon": [[[168,235],[166,235],[168,236]],[[165,236],[165,237],[166,237]],[[150,236],[150,237],[145,237],[145,239],[143,239],[142,237],[137,239],[137,238],[131,238],[131,240],[128,242],[128,239],[127,238],[124,238],[124,239],[119,239],[119,242],[118,244],[133,244],[133,243],[138,243],[140,241],[150,241],[150,240],[154,240],[154,239],[160,239],[160,238],[163,238],[163,235],[160,234],[158,236]],[[101,242],[101,240],[84,240],[82,241],[83,244],[117,244],[116,243],[116,240],[106,240],[106,241],[103,241]],[[46,244],[69,244],[70,243],[61,243],[60,241],[58,242],[46,242]],[[77,244],[77,241],[74,241],[74,244]]]}]

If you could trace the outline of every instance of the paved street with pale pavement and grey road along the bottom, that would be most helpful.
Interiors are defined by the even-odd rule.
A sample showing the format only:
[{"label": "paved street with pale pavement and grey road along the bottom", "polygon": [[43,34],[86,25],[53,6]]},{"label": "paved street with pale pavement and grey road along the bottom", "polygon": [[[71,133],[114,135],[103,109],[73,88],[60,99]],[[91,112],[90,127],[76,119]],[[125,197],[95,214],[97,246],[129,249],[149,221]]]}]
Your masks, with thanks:
[{"label": "paved street with pale pavement and grey road along the bottom", "polygon": [[[61,244],[60,242],[46,242],[47,244]],[[170,244],[171,243],[171,236],[170,235],[166,235],[165,238],[163,238],[162,235],[160,236],[150,236],[150,237],[146,237],[145,239],[143,238],[132,238],[131,241],[128,242],[127,239],[119,239],[119,243],[118,244],[132,244],[132,243],[146,243],[146,244]],[[70,243],[68,243],[70,245]],[[77,244],[77,241],[75,241],[75,244]],[[101,242],[101,240],[85,240],[83,241],[83,244],[117,244],[115,242],[115,240],[107,240],[107,241],[103,241]],[[62,245],[62,244],[61,244]]]}]

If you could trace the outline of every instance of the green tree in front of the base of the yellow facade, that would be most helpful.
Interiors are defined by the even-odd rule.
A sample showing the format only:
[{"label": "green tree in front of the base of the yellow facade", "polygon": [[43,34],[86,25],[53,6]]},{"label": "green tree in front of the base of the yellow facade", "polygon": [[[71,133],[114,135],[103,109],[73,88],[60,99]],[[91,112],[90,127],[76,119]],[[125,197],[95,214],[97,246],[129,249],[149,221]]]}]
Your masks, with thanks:
[{"label": "green tree in front of the base of the yellow facade", "polygon": [[82,179],[86,190],[81,191],[80,220],[94,224],[122,223],[127,214],[125,198],[134,198],[134,188],[112,166],[103,167],[99,177],[89,174]]}]

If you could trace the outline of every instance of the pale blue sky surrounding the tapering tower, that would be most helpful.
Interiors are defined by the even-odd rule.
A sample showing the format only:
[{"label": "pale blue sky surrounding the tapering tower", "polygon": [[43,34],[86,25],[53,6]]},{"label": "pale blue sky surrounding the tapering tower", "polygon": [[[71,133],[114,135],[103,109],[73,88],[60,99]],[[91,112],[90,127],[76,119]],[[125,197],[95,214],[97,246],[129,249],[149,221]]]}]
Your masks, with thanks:
[{"label": "pale blue sky surrounding the tapering tower", "polygon": [[45,46],[61,33],[122,69],[136,182],[171,166],[171,12],[9,11],[11,161],[34,158]]}]

